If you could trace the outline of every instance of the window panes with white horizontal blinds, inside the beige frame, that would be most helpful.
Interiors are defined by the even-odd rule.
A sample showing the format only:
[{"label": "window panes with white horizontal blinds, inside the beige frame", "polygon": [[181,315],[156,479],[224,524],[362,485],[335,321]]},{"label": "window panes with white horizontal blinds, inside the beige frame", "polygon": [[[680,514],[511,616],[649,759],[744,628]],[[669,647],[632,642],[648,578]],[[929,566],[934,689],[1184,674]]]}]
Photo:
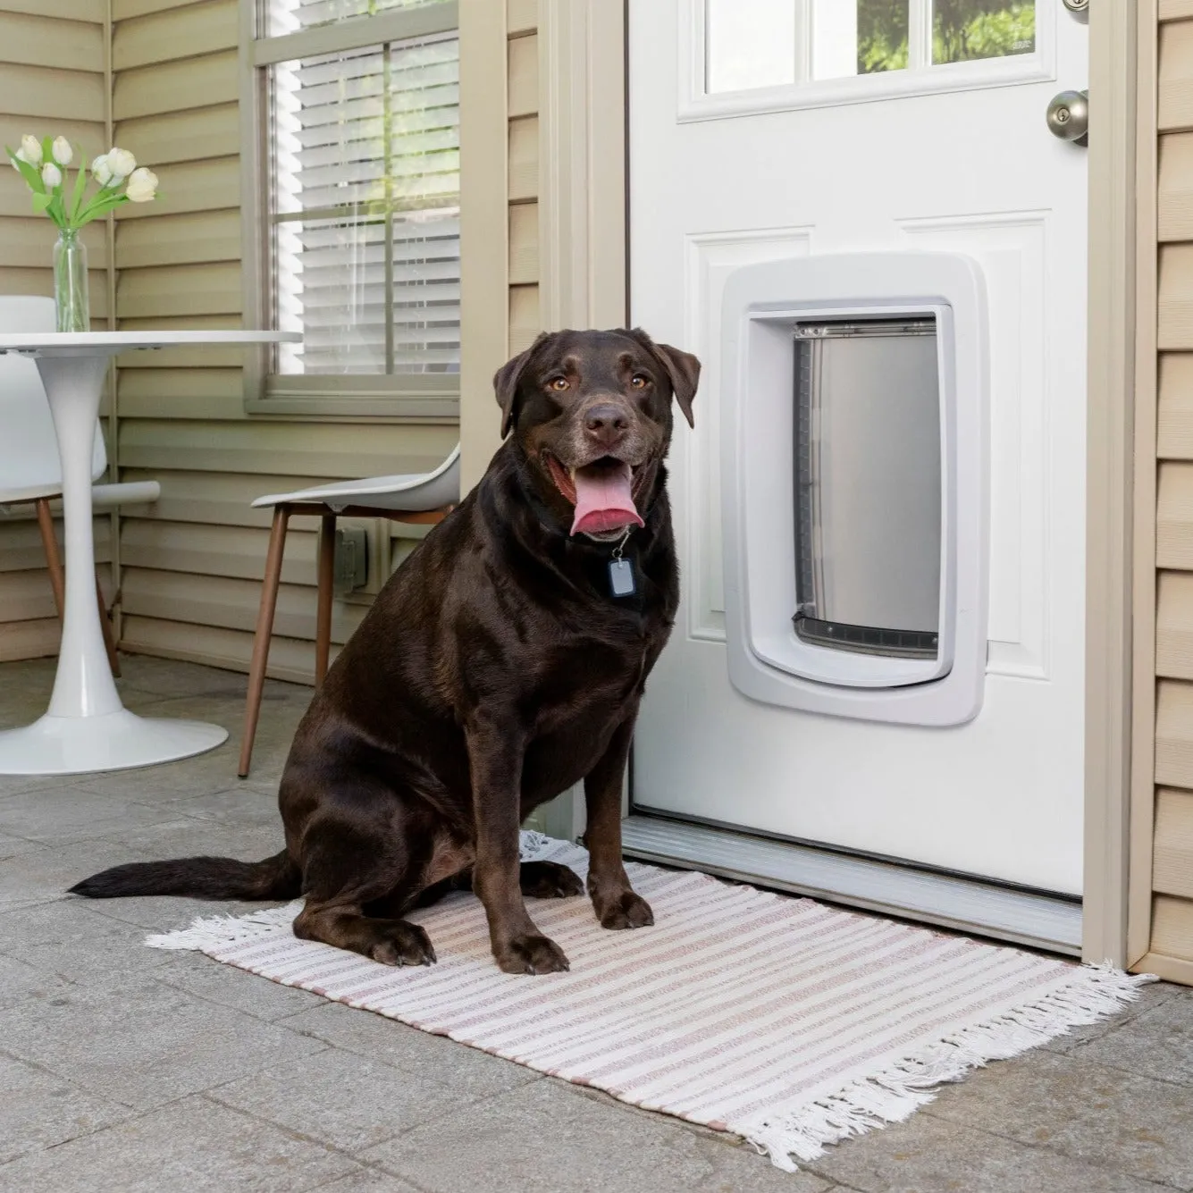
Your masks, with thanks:
[{"label": "window panes with white horizontal blinds, inside the beige frame", "polygon": [[[431,7],[456,6],[267,2],[266,301],[274,327],[302,334],[277,348],[272,391],[457,385],[458,31],[370,39],[402,30],[395,10]],[[329,52],[278,57],[321,38]]]}]

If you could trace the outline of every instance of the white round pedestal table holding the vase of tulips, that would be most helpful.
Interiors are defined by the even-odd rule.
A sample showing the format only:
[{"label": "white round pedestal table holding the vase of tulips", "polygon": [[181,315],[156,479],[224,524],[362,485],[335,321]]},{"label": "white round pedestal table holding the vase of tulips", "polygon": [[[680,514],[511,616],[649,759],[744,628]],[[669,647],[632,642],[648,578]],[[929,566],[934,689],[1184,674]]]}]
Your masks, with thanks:
[{"label": "white round pedestal table holding the vase of tulips", "polygon": [[[80,774],[202,754],[228,730],[198,721],[138,717],[120,703],[95,607],[91,452],[109,359],[137,348],[301,340],[284,332],[52,332],[0,335],[0,352],[36,357],[58,438],[66,533],[66,611],[45,716],[0,733],[0,774]],[[0,434],[2,434],[0,427]]]}]

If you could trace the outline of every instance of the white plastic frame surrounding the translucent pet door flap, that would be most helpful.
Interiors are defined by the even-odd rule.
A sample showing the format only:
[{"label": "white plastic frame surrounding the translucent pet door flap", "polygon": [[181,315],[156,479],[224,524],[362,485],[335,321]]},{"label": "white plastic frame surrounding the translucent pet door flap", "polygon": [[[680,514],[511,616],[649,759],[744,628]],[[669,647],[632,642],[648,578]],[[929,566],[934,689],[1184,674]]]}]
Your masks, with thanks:
[{"label": "white plastic frame surrounding the translucent pet door flap", "polygon": [[[933,319],[940,395],[935,657],[822,647],[796,633],[795,330],[818,321]],[[988,319],[977,262],[859,253],[743,266],[723,307],[722,519],[729,675],[755,700],[951,725],[982,706],[988,604]]]}]

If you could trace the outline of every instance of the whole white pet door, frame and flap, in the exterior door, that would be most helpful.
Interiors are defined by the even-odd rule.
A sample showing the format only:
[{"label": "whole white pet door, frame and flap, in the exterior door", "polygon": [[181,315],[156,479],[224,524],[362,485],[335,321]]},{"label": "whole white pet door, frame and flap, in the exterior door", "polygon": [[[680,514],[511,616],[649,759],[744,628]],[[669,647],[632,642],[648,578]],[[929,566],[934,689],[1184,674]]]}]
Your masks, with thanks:
[{"label": "whole white pet door, frame and flap, in the exterior door", "polygon": [[729,678],[750,699],[956,725],[985,678],[985,291],[952,253],[725,280]]}]

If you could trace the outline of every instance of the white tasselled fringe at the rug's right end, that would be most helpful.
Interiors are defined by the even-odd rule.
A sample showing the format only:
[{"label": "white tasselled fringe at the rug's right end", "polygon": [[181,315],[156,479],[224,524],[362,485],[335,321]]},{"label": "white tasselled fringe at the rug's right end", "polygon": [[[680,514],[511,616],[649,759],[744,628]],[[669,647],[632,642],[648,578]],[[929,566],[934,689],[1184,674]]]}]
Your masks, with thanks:
[{"label": "white tasselled fringe at the rug's right end", "polygon": [[1109,962],[1083,965],[1075,981],[1059,990],[947,1036],[836,1094],[779,1118],[727,1125],[775,1167],[797,1172],[796,1160],[817,1160],[828,1144],[902,1123],[933,1101],[945,1082],[959,1081],[990,1061],[1019,1056],[1074,1027],[1099,1022],[1133,1002],[1141,985],[1156,981],[1150,973],[1126,973]]}]

